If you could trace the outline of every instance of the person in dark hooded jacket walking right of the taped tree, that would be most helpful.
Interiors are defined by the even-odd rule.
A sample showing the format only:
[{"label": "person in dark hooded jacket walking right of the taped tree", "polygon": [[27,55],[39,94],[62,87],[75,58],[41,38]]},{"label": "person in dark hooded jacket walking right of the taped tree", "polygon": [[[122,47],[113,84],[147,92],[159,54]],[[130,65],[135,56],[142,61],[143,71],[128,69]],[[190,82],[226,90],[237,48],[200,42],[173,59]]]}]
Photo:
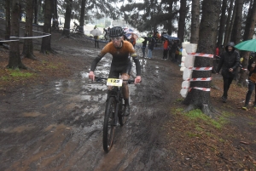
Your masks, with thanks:
[{"label": "person in dark hooded jacket walking right of the taped tree", "polygon": [[232,83],[235,74],[236,68],[240,65],[240,56],[239,53],[234,48],[235,43],[230,42],[225,47],[225,52],[220,55],[220,60],[218,63],[218,68],[216,74],[222,68],[221,74],[224,81],[224,94],[222,100],[225,103],[228,99],[228,91],[230,84]]}]

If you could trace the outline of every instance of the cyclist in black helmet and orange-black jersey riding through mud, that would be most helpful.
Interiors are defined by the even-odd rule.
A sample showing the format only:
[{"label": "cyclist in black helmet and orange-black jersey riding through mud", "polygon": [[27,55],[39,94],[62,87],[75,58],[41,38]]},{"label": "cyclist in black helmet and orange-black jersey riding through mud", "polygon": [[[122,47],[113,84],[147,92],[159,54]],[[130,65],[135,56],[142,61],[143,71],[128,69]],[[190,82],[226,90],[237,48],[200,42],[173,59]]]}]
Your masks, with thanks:
[{"label": "cyclist in black helmet and orange-black jersey riding through mud", "polygon": [[[135,78],[135,83],[141,82],[141,66],[137,58],[137,54],[132,44],[128,41],[123,40],[124,31],[120,26],[114,26],[109,31],[109,37],[111,37],[111,42],[108,43],[100,54],[97,55],[96,59],[93,60],[89,78],[94,80],[95,75],[94,71],[96,69],[97,63],[102,60],[103,56],[107,53],[112,54],[113,59],[111,63],[111,68],[109,71],[108,77],[119,78],[121,75],[122,79],[129,79],[131,72],[131,57],[136,65],[137,77]],[[123,83],[123,95],[125,100],[125,116],[130,114],[130,105],[129,105],[129,88],[127,83]]]}]

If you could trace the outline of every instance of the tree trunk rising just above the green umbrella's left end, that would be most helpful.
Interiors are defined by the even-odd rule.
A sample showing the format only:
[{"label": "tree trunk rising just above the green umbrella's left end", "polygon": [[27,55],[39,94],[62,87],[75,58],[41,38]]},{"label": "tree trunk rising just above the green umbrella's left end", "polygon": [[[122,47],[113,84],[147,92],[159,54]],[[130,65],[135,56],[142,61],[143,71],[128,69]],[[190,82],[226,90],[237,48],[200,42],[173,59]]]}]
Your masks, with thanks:
[{"label": "tree trunk rising just above the green umbrella's left end", "polygon": [[241,41],[241,19],[242,19],[242,6],[244,0],[236,0],[236,18],[232,30],[232,35],[230,38],[231,42],[235,44],[240,43]]}]

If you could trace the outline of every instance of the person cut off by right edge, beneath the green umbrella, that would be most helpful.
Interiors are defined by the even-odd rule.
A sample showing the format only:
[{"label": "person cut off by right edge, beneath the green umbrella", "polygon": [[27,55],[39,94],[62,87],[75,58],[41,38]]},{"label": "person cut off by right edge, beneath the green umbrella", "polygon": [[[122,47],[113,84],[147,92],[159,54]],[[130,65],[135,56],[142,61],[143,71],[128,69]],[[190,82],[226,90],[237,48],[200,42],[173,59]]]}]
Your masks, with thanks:
[{"label": "person cut off by right edge, beneath the green umbrella", "polygon": [[[251,95],[253,94],[253,89],[255,88],[256,92],[256,59],[255,59],[255,54],[251,53],[249,57],[249,64],[247,66],[247,69],[249,71],[249,84],[248,84],[248,91],[247,91],[247,96],[245,100],[245,104],[242,107],[242,109],[247,110],[247,107],[249,105],[249,101],[251,99]],[[256,94],[255,94],[255,100],[254,100],[254,108],[256,109]]]}]

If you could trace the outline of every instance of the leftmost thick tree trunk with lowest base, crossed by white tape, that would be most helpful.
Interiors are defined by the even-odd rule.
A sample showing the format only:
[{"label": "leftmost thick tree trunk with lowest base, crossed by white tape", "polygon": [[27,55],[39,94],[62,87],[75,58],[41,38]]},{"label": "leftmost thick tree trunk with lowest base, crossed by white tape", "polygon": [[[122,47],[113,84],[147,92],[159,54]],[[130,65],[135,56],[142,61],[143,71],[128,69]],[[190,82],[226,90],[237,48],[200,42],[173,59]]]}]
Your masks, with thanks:
[{"label": "leftmost thick tree trunk with lowest base, crossed by white tape", "polygon": [[17,37],[19,37],[20,30],[20,0],[12,1],[12,9],[11,9],[11,37],[16,37],[17,41],[13,41],[9,43],[9,64],[8,68],[16,69],[22,68],[26,69],[20,59],[20,41]]}]

